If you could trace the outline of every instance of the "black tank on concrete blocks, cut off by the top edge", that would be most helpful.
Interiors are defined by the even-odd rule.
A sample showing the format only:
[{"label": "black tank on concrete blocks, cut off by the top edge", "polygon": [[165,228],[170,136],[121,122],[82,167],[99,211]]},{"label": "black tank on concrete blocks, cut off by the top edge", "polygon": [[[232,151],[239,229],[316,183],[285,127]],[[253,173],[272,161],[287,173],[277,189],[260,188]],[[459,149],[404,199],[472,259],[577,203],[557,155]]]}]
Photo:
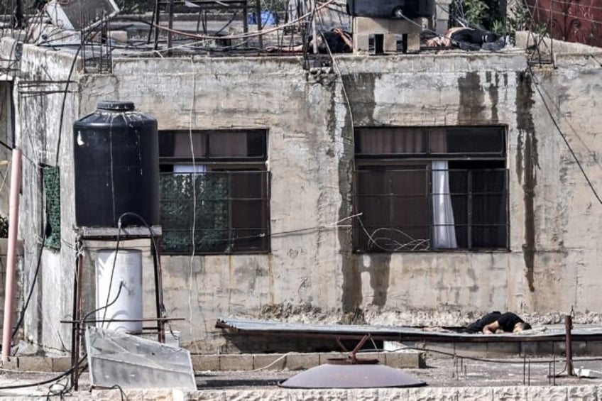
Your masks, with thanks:
[{"label": "black tank on concrete blocks, cut off by the top edge", "polygon": [[[432,1],[434,2],[434,1]],[[347,0],[347,13],[368,18],[432,16],[431,0]]]}]

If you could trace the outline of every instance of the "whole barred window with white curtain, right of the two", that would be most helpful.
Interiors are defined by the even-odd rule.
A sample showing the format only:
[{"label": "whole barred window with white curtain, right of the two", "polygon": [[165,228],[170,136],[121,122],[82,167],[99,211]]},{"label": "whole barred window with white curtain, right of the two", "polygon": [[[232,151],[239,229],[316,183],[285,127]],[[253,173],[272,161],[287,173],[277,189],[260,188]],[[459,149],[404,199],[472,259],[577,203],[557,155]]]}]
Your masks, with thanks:
[{"label": "whole barred window with white curtain, right of the two", "polygon": [[359,252],[508,248],[505,128],[356,128]]}]

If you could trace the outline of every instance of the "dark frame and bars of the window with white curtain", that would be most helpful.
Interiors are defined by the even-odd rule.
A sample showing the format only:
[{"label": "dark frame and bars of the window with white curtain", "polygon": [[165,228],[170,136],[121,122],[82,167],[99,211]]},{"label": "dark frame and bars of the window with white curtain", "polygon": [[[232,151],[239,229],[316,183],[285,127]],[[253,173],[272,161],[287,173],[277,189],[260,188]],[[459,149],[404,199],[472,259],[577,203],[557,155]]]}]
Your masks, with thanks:
[{"label": "dark frame and bars of the window with white curtain", "polygon": [[[410,145],[409,148],[411,149],[420,149],[422,150],[421,152],[418,153],[412,153],[412,152],[383,152],[383,153],[376,153],[376,152],[363,152],[361,149],[361,141],[363,138],[361,138],[362,133],[366,133],[368,132],[369,135],[372,135],[374,132],[378,132],[379,130],[384,129],[384,130],[388,130],[391,132],[403,132],[403,130],[405,129],[409,129],[412,130],[412,133],[415,133],[417,131],[422,131],[422,133],[425,133],[425,136],[423,138],[422,143],[420,143],[420,141],[413,141],[414,145]],[[500,142],[491,145],[491,143],[488,142],[483,142],[484,146],[489,147],[491,146],[491,149],[488,149],[487,151],[479,151],[478,149],[472,149],[469,152],[464,152],[461,153],[459,151],[454,151],[454,152],[436,152],[436,151],[431,151],[432,149],[430,149],[429,146],[427,146],[427,144],[432,144],[432,142],[430,141],[429,135],[431,132],[439,132],[441,133],[441,131],[445,131],[445,135],[447,136],[447,133],[449,131],[452,131],[452,133],[455,133],[457,131],[467,131],[469,132],[469,135],[472,134],[478,134],[478,131],[486,131],[489,133],[492,133],[491,135],[493,136],[493,138],[498,138],[500,140]],[[354,252],[356,253],[378,253],[378,252],[385,252],[385,253],[395,253],[395,252],[407,252],[407,251],[429,251],[429,252],[438,252],[438,251],[445,251],[445,252],[491,252],[491,251],[509,251],[510,249],[510,207],[509,207],[509,202],[510,202],[510,197],[509,197],[509,175],[508,175],[508,167],[507,167],[507,160],[506,160],[506,154],[507,154],[507,127],[505,126],[444,126],[444,127],[363,127],[363,128],[356,128],[355,130],[355,163],[356,163],[356,168],[354,170],[354,180],[353,180],[353,194],[354,194],[354,214],[357,213],[364,213],[364,219],[368,219],[367,223],[364,223],[363,221],[358,221],[358,219],[354,220],[354,227],[353,227],[353,243],[354,243]],[[377,134],[378,135],[378,134]],[[378,142],[379,140],[381,141],[381,143],[377,143],[376,146],[374,144],[372,145],[368,145],[366,146],[366,148],[378,148],[378,146],[380,145],[381,150],[385,149],[385,147],[387,145],[390,146],[391,149],[393,149],[394,144],[386,144],[383,146],[382,143],[382,138],[387,138],[388,133],[385,133],[385,135],[381,136],[380,138],[376,138]],[[482,138],[481,138],[482,139]],[[478,141],[477,141],[478,142]],[[416,143],[418,143],[418,145],[416,145]],[[366,144],[366,142],[364,141],[363,144]],[[421,148],[422,146],[422,148]],[[473,146],[474,148],[474,144],[471,144],[470,146]],[[457,148],[457,147],[456,147]],[[495,148],[495,149],[494,149]],[[406,150],[406,149],[402,149],[402,150]],[[447,150],[447,149],[446,149]],[[466,164],[466,167],[464,172],[466,173],[466,180],[465,182],[470,183],[473,182],[475,180],[478,180],[478,175],[493,175],[493,177],[497,177],[495,178],[495,182],[493,184],[493,186],[497,185],[502,185],[502,190],[499,193],[496,192],[491,192],[491,190],[489,189],[483,189],[483,193],[479,193],[478,191],[474,191],[471,188],[467,188],[466,189],[466,193],[454,193],[454,190],[449,189],[449,197],[450,199],[454,199],[454,201],[452,201],[452,204],[454,204],[453,209],[453,213],[454,213],[454,231],[456,231],[456,236],[458,236],[458,243],[457,243],[457,248],[434,248],[432,242],[434,241],[434,229],[437,226],[437,224],[434,223],[434,218],[433,218],[433,202],[435,200],[435,196],[432,192],[433,190],[433,185],[432,185],[432,180],[433,180],[433,174],[432,174],[432,163],[435,161],[447,161],[448,162],[448,180],[449,180],[449,174],[454,174],[456,177],[458,177],[459,174],[461,174],[462,169],[459,167],[454,167],[452,168],[451,165],[452,164],[456,164],[456,165],[462,165],[463,163]],[[482,168],[476,168],[476,167],[470,167],[470,165],[479,165],[482,164]],[[425,190],[424,192],[422,192],[422,196],[425,197],[425,202],[426,204],[422,205],[422,209],[426,210],[427,213],[427,219],[425,220],[425,224],[417,224],[416,226],[411,226],[411,224],[408,226],[410,227],[411,230],[415,230],[415,231],[420,231],[420,228],[422,227],[422,229],[424,229],[424,232],[427,233],[426,236],[424,238],[427,239],[427,246],[424,246],[424,244],[418,243],[417,246],[414,247],[414,245],[412,245],[412,241],[409,241],[410,246],[405,247],[403,245],[403,243],[400,243],[400,241],[396,241],[395,240],[395,229],[398,229],[400,227],[403,227],[405,229],[406,226],[395,226],[395,215],[390,212],[388,214],[388,226],[381,226],[381,224],[383,224],[383,221],[386,220],[385,217],[387,214],[387,210],[395,210],[396,207],[399,207],[400,204],[403,204],[404,202],[409,202],[410,204],[412,203],[411,200],[408,198],[411,197],[417,197],[417,194],[403,194],[403,192],[395,192],[395,190],[390,190],[390,193],[386,193],[386,190],[384,189],[387,185],[393,185],[391,184],[391,182],[393,181],[399,181],[399,179],[394,179],[391,177],[388,177],[390,175],[395,175],[398,174],[398,177],[401,177],[401,180],[403,181],[404,178],[403,176],[409,176],[414,174],[413,172],[400,172],[398,170],[403,170],[403,169],[407,169],[407,168],[411,168],[412,166],[420,166],[422,165],[422,168],[416,171],[422,171],[425,174],[425,180],[423,180],[424,185],[425,185]],[[378,171],[382,170],[382,177],[378,176]],[[363,188],[362,188],[362,184],[360,182],[361,180],[361,175],[362,174],[366,174],[367,171],[370,171],[373,173],[373,176],[370,177],[370,180],[368,180],[368,184],[364,183],[363,184]],[[397,171],[397,172],[396,172]],[[478,173],[477,173],[478,172]],[[388,177],[388,178],[386,178]],[[381,189],[381,194],[370,194],[369,192],[366,192],[366,185],[368,187],[374,186],[376,185],[376,187],[378,187],[378,180],[388,180],[387,182],[385,182],[385,187],[383,187],[383,189]],[[483,180],[481,178],[481,180]],[[476,181],[475,181],[476,182]],[[397,185],[397,184],[396,184]],[[484,184],[485,187],[488,186],[488,184]],[[411,185],[410,185],[411,186]],[[381,198],[379,199],[378,196],[381,196]],[[459,214],[464,214],[464,218],[466,218],[466,221],[461,221],[461,219],[457,219],[455,217],[456,215],[456,207],[457,205],[454,203],[456,202],[455,199],[457,198],[461,198],[461,197],[465,197],[466,198],[466,212],[464,213],[464,211],[462,211]],[[361,197],[363,197],[364,199],[360,199]],[[403,198],[406,198],[405,200]],[[455,197],[455,198],[454,198]],[[400,200],[401,198],[401,200]],[[370,206],[368,207],[373,207],[373,212],[370,212],[370,209],[366,210],[366,202],[368,202],[368,199],[370,199],[370,202],[373,202],[373,204],[369,204]],[[478,201],[475,202],[475,199],[478,199]],[[491,209],[493,209],[493,207],[491,207],[492,204],[492,200],[493,199],[493,204],[495,204],[496,202],[500,202],[500,204],[503,205],[503,207],[500,209],[500,212],[498,214],[498,216],[494,216],[493,218],[491,218],[490,220],[490,214],[484,213],[481,215],[478,215],[476,218],[474,216],[472,216],[472,213],[474,212],[473,209],[471,209],[472,207],[487,207],[487,205],[490,205],[489,207]],[[473,206],[473,204],[471,202],[475,202],[476,206]],[[485,206],[483,206],[485,205]],[[378,209],[380,207],[380,209]],[[362,210],[363,209],[363,210]],[[380,212],[375,212],[376,210],[379,210]],[[422,213],[424,214],[424,210],[422,211]],[[366,213],[370,213],[369,215],[366,215]],[[420,215],[420,210],[416,209],[416,214]],[[485,216],[485,217],[483,217]],[[412,216],[410,216],[410,219],[412,218]],[[362,217],[360,216],[360,219],[362,219]],[[376,220],[375,220],[376,219]],[[383,220],[385,219],[385,220]],[[477,223],[476,221],[479,221],[479,219],[483,219],[483,220],[487,220],[487,223]],[[496,221],[495,223],[493,222],[494,220],[499,219],[501,222]],[[374,226],[371,226],[370,229],[377,229],[377,230],[381,230],[379,231],[379,236],[378,238],[383,239],[382,235],[385,235],[384,237],[384,242],[390,244],[390,246],[378,246],[378,243],[374,242],[374,241],[370,241],[371,238],[371,234],[373,233],[373,231],[370,231],[370,229],[366,229],[365,225],[366,224],[371,224],[372,221],[377,221],[380,224],[376,224]],[[466,231],[461,231],[462,229],[465,229]],[[386,235],[386,231],[388,230],[388,236]],[[472,233],[471,230],[475,230],[475,234]],[[415,231],[410,231],[410,234],[412,234],[412,232]],[[496,246],[478,246],[475,245],[475,243],[478,243],[479,241],[474,241],[473,235],[476,235],[476,233],[478,233],[479,231],[483,231],[485,233],[489,233],[489,237],[487,235],[485,235],[484,237],[486,238],[497,238],[499,243]],[[491,231],[491,232],[490,232]],[[461,233],[458,234],[458,232]],[[383,234],[385,233],[385,234]],[[493,234],[491,234],[493,233]],[[401,234],[400,234],[401,235]],[[375,236],[376,237],[376,236]],[[412,237],[413,238],[413,237]],[[388,242],[387,242],[388,241]],[[486,242],[486,240],[483,240],[483,242]],[[463,244],[462,246],[460,244]],[[393,246],[394,245],[394,246]]]}]

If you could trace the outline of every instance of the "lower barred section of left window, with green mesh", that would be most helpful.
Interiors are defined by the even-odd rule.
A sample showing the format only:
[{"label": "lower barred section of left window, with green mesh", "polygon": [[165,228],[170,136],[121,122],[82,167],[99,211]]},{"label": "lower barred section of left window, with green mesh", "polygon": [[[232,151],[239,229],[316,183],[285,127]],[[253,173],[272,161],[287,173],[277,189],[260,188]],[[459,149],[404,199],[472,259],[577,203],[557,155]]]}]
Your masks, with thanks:
[{"label": "lower barred section of left window, with green mesh", "polygon": [[162,173],[163,252],[268,251],[268,177],[266,171]]}]

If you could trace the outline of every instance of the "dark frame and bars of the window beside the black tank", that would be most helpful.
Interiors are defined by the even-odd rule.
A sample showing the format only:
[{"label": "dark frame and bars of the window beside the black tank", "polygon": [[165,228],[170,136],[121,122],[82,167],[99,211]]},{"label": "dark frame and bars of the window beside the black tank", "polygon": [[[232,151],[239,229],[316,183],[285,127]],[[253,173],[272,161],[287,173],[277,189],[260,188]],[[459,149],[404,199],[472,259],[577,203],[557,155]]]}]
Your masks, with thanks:
[{"label": "dark frame and bars of the window beside the black tank", "polygon": [[[224,133],[234,137],[236,137],[237,134],[242,135],[250,133],[251,135],[246,135],[246,146],[247,149],[250,149],[248,152],[252,154],[250,156],[243,155],[239,149],[236,150],[236,154],[234,155],[223,155],[230,150],[228,144],[225,142],[221,143],[222,155],[216,156],[209,153],[207,150],[209,150],[209,141],[211,141],[211,136],[219,136],[220,134]],[[161,175],[160,180],[162,185],[164,184],[165,180],[180,180],[180,183],[186,182],[186,191],[190,194],[192,193],[190,192],[192,190],[190,185],[194,183],[198,196],[206,197],[204,199],[195,199],[197,195],[193,194],[192,198],[182,198],[179,201],[176,201],[175,199],[170,199],[168,197],[170,194],[164,194],[163,186],[161,186],[160,205],[162,210],[161,224],[163,225],[164,237],[163,254],[176,256],[190,255],[192,253],[192,223],[190,223],[190,227],[182,229],[182,227],[170,228],[169,224],[166,225],[163,221],[165,220],[165,214],[163,214],[163,207],[165,207],[165,203],[173,202],[175,204],[175,202],[180,202],[180,209],[186,209],[189,213],[188,215],[190,216],[192,215],[192,205],[194,204],[192,199],[195,199],[197,202],[195,210],[204,208],[206,209],[207,207],[212,210],[212,214],[209,215],[196,215],[197,221],[202,221],[203,218],[209,218],[209,220],[219,220],[219,223],[213,220],[213,223],[218,224],[218,226],[213,226],[210,229],[199,229],[199,226],[195,226],[195,255],[252,255],[270,253],[271,175],[266,168],[268,153],[268,131],[265,129],[193,130],[192,135],[199,136],[201,140],[204,141],[205,145],[205,147],[202,149],[204,150],[202,154],[198,154],[197,148],[195,148],[194,158],[195,165],[204,166],[203,172],[174,172],[175,165],[192,166],[192,158],[190,158],[190,156],[182,157],[181,154],[166,154],[165,138],[161,138],[161,135],[165,134],[168,136],[171,135],[173,138],[175,138],[175,135],[185,135],[187,138],[190,138],[191,132],[189,130],[159,131],[160,143],[162,143],[163,140],[164,145],[163,149],[160,148],[159,158]],[[255,143],[248,145],[248,143],[251,141],[248,140],[250,136],[254,136],[253,141],[255,141]],[[196,139],[193,138],[193,141],[195,140]],[[202,148],[202,145],[200,147]],[[175,145],[171,149],[173,150],[174,148]],[[261,149],[261,154],[258,152],[259,148],[263,148]],[[188,155],[191,155],[190,150],[188,150],[187,153]],[[243,176],[246,176],[246,178],[243,178]],[[235,184],[237,180],[243,180],[241,182],[242,185],[234,186],[233,184]],[[248,180],[258,181],[260,186],[257,188],[245,188],[244,183],[248,182]],[[210,182],[212,182],[212,187],[215,189],[215,191],[217,191],[214,192],[216,195],[211,195],[206,192],[206,190],[210,188],[207,187]],[[173,185],[173,183],[167,183],[168,185]],[[217,187],[215,185],[217,185]],[[241,191],[244,193],[241,194]],[[172,193],[171,195],[173,196],[174,194]],[[212,198],[212,196],[217,196],[217,198]],[[251,207],[251,212],[256,213],[244,214],[243,212],[240,212],[240,210],[245,210],[248,207]],[[236,217],[237,213],[239,213],[238,218]],[[227,219],[227,227],[219,227],[219,225],[224,224],[224,221],[220,216]],[[190,219],[192,219],[192,216],[190,216]],[[257,221],[259,222],[258,226],[254,228],[245,228],[237,226],[236,222],[232,221],[232,219],[236,219],[238,224],[242,223],[243,225],[245,221],[255,221],[256,223]],[[170,236],[177,236],[177,231],[180,231],[182,236],[187,235],[187,241],[189,243],[187,248],[185,246],[175,246],[170,248],[170,238],[175,238]],[[255,234],[240,236],[236,234],[237,232],[241,233],[244,231],[248,231],[248,233],[253,232]],[[215,238],[211,245],[207,245],[206,240],[208,236],[211,236],[211,232],[213,232]],[[253,245],[254,241],[255,245]],[[167,246],[165,246],[166,242],[168,243]],[[204,246],[202,245],[203,243],[205,244]],[[248,246],[243,246],[243,243],[247,243]],[[241,248],[238,248],[239,246],[241,246]]]}]

